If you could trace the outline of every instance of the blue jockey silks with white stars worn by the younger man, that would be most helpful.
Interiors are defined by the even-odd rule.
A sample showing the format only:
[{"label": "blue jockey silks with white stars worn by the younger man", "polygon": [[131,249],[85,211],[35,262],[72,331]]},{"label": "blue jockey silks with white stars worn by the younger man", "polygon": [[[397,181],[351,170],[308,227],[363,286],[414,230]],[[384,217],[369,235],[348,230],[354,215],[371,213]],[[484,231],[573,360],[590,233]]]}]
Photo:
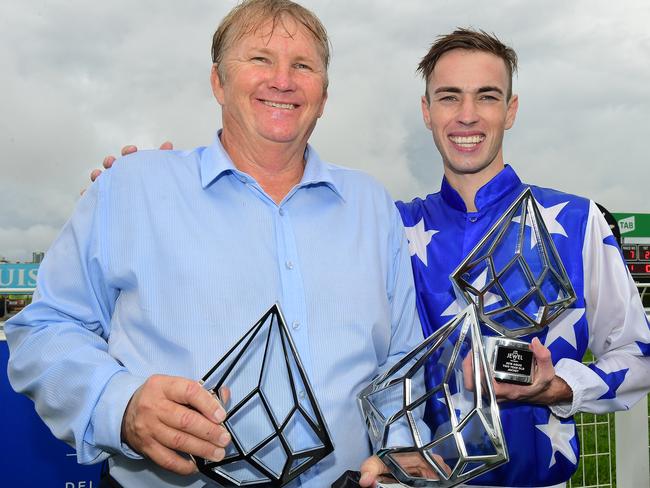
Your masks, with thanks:
[{"label": "blue jockey silks with white stars worn by the younger man", "polygon": [[[476,212],[467,212],[446,180],[440,192],[425,199],[398,202],[407,233],[414,232],[409,228],[415,226],[421,229],[418,235],[424,230],[437,231],[430,235],[426,249],[418,247],[419,254],[427,257],[426,264],[417,255],[411,257],[425,335],[437,330],[458,308],[449,274],[525,186],[506,166],[477,192]],[[549,329],[536,334],[551,351],[556,374],[572,388],[573,402],[551,409],[500,404],[511,460],[473,481],[479,485],[549,486],[569,479],[579,449],[573,420],[566,419],[577,411],[625,410],[650,389],[648,323],[598,208],[574,195],[531,188],[578,296]],[[580,362],[587,349],[598,358],[590,367]]]}]

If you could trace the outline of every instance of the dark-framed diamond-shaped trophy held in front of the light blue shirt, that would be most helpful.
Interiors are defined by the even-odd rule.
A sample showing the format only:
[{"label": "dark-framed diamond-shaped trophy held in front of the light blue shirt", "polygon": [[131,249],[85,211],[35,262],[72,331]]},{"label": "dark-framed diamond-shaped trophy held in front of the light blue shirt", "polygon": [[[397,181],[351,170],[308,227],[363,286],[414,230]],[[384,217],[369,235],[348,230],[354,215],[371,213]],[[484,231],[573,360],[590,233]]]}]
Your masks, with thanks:
[{"label": "dark-framed diamond-shaped trophy held in front of the light blue shirt", "polygon": [[278,304],[202,382],[222,400],[232,442],[220,462],[194,460],[221,486],[284,486],[334,450]]}]

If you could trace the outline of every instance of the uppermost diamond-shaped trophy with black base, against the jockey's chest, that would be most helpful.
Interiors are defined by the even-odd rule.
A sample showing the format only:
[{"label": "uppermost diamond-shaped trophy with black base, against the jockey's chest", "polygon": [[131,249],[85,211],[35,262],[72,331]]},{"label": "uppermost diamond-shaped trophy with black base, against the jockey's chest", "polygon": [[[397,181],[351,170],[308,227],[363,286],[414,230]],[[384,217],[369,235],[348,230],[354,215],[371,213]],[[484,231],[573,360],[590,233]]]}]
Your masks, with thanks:
[{"label": "uppermost diamond-shaped trophy with black base, against the jockey's chest", "polygon": [[494,378],[533,382],[534,358],[518,338],[540,332],[576,300],[562,260],[530,190],[499,218],[451,274],[457,295],[476,304]]}]

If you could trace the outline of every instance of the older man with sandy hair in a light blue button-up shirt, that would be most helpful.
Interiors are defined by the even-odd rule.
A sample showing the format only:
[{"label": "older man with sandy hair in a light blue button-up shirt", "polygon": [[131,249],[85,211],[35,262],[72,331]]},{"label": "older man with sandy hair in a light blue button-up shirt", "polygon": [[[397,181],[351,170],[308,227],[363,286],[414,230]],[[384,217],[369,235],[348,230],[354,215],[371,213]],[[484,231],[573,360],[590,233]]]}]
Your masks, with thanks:
[{"label": "older man with sandy hair in a light blue button-up shirt", "polygon": [[311,12],[245,1],[212,54],[222,130],[89,188],[6,324],[10,379],[115,483],[203,486],[178,452],[220,460],[230,439],[196,379],[280,302],[336,447],[296,484],[329,486],[369,455],[356,392],[422,337],[401,220],[307,144],[329,61]]}]

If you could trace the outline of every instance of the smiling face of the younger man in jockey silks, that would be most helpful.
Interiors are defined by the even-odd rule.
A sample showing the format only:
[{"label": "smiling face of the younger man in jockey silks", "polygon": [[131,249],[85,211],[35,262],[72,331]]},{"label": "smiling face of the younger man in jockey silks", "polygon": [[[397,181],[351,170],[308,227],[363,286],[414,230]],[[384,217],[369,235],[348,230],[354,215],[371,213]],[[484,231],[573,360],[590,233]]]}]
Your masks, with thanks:
[{"label": "smiling face of the younger man in jockey silks", "polygon": [[503,134],[518,100],[506,100],[504,61],[490,53],[454,49],[443,54],[422,97],[424,123],[442,155],[445,173],[494,175],[503,167]]}]

